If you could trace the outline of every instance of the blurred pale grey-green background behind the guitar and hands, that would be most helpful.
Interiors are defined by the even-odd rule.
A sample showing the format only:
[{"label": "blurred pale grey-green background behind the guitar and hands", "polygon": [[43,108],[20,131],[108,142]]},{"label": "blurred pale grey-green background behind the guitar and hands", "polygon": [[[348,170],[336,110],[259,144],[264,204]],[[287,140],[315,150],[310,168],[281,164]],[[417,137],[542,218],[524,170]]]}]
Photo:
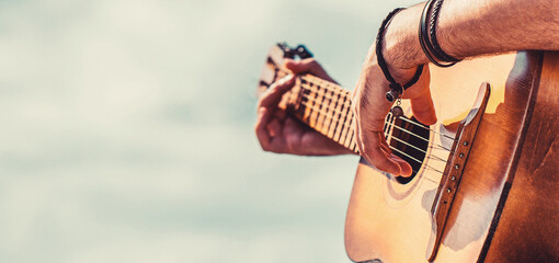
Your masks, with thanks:
[{"label": "blurred pale grey-green background behind the guitar and hands", "polygon": [[263,152],[276,42],[353,89],[418,1],[0,1],[0,262],[350,262],[356,157]]}]

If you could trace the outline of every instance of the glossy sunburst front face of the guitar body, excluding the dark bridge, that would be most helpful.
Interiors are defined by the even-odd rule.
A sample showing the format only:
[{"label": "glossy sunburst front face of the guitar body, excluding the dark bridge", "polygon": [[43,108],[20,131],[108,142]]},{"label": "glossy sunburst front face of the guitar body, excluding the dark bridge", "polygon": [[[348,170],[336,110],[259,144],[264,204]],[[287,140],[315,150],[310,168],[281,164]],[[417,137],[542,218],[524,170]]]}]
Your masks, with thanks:
[{"label": "glossy sunburst front face of the guitar body, excluding the dark bridge", "polygon": [[[455,136],[453,125],[474,103],[478,91],[472,88],[483,81],[492,87],[435,262],[476,262],[483,261],[488,251],[494,254],[489,250],[491,237],[499,219],[505,219],[499,215],[535,105],[541,59],[541,53],[529,52],[475,59],[450,69],[432,68],[431,89],[440,119],[432,127],[449,137]],[[444,144],[440,137],[433,134],[431,144]],[[345,222],[349,256],[355,262],[426,262],[437,179],[436,171],[423,169],[410,183],[399,185],[360,163]]]}]

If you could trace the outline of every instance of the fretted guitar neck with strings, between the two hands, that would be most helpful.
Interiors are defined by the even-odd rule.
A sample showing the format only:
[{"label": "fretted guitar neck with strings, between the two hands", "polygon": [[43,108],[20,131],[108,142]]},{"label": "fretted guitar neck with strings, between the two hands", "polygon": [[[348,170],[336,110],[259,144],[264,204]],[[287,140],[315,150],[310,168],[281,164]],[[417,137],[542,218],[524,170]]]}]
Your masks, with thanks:
[{"label": "fretted guitar neck with strings, between the two hands", "polygon": [[281,103],[310,128],[358,153],[353,133],[350,92],[320,78],[297,77],[295,87]]}]

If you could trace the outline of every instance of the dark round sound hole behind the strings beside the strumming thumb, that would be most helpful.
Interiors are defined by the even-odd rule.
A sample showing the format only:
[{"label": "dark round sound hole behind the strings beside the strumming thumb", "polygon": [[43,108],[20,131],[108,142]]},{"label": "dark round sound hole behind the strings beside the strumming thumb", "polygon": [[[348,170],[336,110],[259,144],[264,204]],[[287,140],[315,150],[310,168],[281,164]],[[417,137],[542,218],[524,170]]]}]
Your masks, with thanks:
[{"label": "dark round sound hole behind the strings beside the strumming thumb", "polygon": [[[420,124],[420,122],[418,122],[414,117],[412,117],[411,121]],[[430,130],[404,118],[396,119],[395,126],[398,126],[399,128],[393,128],[392,137],[398,139],[392,138],[390,140],[390,146],[398,150],[392,150],[392,152],[410,163],[411,169],[413,170],[411,176],[397,176],[396,181],[401,184],[407,184],[415,178],[425,160],[429,148]]]}]

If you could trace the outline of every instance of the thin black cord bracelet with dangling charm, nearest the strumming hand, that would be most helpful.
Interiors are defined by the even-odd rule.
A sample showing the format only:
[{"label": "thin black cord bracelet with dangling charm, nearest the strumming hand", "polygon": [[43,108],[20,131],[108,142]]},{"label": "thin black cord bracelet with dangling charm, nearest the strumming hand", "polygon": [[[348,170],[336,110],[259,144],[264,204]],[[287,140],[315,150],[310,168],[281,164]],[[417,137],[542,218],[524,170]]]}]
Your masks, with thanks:
[{"label": "thin black cord bracelet with dangling charm, nearest the strumming hand", "polygon": [[386,99],[389,102],[395,102],[396,99],[399,99],[400,95],[403,93],[404,90],[412,87],[418,82],[418,80],[421,77],[421,73],[423,72],[423,65],[418,67],[418,70],[415,71],[415,75],[413,78],[406,84],[401,85],[398,83],[392,75],[390,75],[390,71],[388,70],[388,66],[386,65],[385,57],[383,56],[383,39],[385,36],[385,31],[387,27],[387,24],[392,20],[393,15],[396,15],[398,12],[400,12],[402,8],[397,8],[392,10],[386,19],[383,21],[383,24],[380,25],[380,28],[378,28],[377,39],[376,39],[376,55],[377,55],[377,64],[383,70],[383,73],[385,75],[386,80],[390,82],[390,91],[386,93]]}]

